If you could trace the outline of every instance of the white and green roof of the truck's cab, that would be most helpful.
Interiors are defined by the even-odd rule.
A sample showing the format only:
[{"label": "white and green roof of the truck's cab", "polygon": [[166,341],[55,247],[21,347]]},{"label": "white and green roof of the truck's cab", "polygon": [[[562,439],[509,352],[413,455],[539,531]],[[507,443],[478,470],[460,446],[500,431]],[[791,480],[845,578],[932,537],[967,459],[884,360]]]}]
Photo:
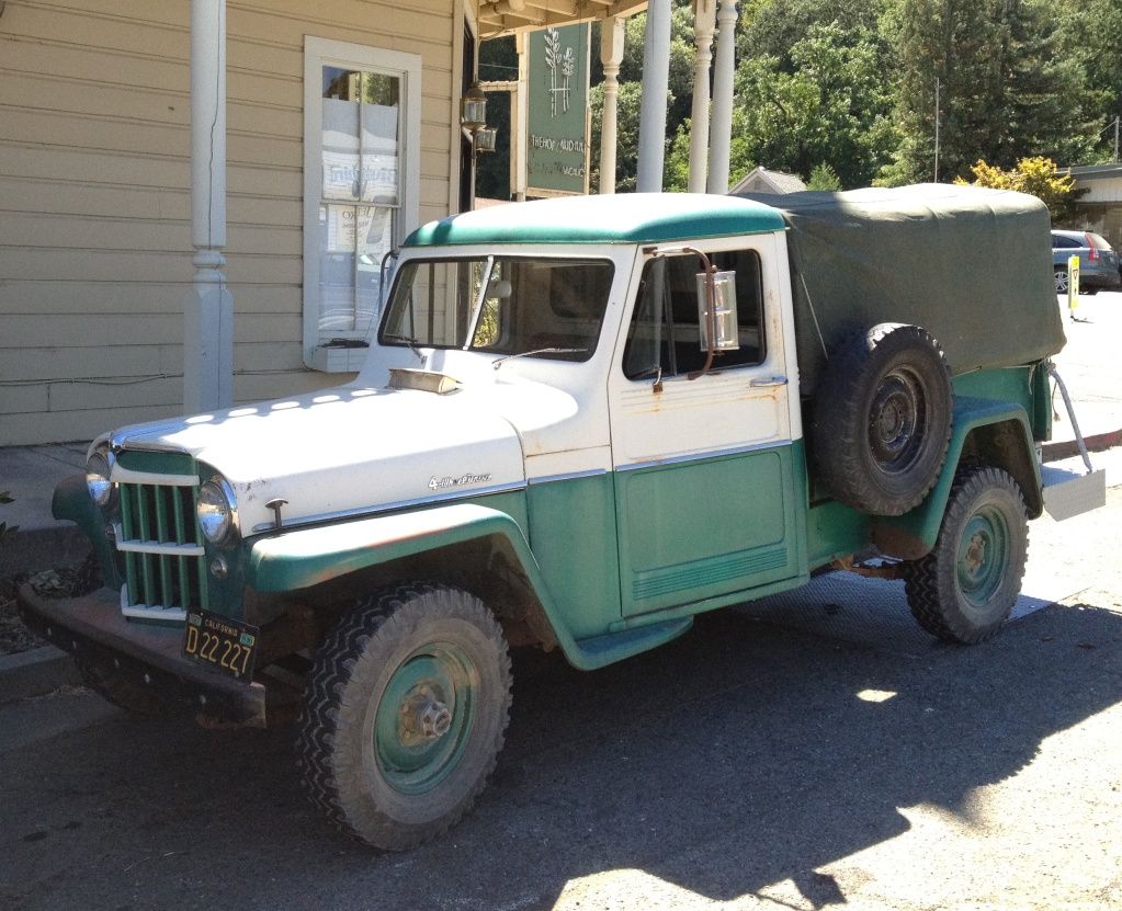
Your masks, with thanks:
[{"label": "white and green roof of the truck's cab", "polygon": [[703,193],[565,196],[494,205],[431,221],[406,247],[469,243],[664,243],[784,229],[763,203]]}]

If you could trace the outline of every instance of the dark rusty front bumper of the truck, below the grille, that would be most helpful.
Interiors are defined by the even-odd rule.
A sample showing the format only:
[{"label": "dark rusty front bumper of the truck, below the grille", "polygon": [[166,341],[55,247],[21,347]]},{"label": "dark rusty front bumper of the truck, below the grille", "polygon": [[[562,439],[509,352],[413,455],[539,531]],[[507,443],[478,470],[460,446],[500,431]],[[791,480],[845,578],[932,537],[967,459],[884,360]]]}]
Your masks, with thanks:
[{"label": "dark rusty front bumper of the truck, below the grille", "polygon": [[266,726],[266,688],[226,678],[183,657],[183,629],[130,623],[108,588],[81,598],[44,598],[27,585],[18,592],[25,623],[83,662],[151,687],[206,719],[239,727]]}]

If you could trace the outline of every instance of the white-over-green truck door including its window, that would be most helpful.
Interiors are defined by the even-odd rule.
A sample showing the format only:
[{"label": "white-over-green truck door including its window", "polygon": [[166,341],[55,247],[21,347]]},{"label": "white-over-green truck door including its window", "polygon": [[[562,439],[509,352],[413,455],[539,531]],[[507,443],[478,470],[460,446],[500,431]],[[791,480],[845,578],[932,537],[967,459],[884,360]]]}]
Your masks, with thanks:
[{"label": "white-over-green truck door including its window", "polygon": [[692,254],[656,256],[643,264],[609,380],[625,617],[797,573],[793,390],[778,295],[764,293],[760,249],[709,256],[736,272],[741,348],[689,378],[706,359],[701,267]]}]

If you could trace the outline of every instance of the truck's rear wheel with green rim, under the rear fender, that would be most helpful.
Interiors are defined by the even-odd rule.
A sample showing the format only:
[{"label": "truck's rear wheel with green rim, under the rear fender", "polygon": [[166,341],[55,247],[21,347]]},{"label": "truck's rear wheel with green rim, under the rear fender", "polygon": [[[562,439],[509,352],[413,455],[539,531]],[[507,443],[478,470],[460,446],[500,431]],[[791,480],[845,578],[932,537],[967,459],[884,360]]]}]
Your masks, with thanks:
[{"label": "truck's rear wheel with green rim, under the rear fender", "polygon": [[935,549],[907,568],[912,616],[945,642],[984,642],[1013,609],[1028,549],[1017,481],[1000,468],[960,470]]}]

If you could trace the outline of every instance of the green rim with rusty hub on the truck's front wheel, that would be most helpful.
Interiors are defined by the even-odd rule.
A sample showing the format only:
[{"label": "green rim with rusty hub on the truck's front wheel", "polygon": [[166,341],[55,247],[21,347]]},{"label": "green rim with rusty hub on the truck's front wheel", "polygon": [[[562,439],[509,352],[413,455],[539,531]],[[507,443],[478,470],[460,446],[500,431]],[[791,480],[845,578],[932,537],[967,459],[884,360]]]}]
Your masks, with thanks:
[{"label": "green rim with rusty hub on the truck's front wheel", "polygon": [[403,661],[374,723],[374,756],[403,794],[436,788],[463,757],[478,702],[479,673],[462,648],[439,643]]}]

